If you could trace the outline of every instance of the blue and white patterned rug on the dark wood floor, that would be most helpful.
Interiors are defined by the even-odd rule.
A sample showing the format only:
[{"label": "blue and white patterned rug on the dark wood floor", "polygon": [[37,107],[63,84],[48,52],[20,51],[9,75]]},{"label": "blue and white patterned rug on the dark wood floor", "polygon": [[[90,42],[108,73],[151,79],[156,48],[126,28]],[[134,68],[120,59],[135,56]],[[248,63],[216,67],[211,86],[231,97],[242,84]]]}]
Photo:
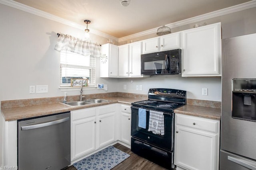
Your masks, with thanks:
[{"label": "blue and white patterned rug on the dark wood floor", "polygon": [[130,155],[115,147],[107,147],[73,164],[78,170],[110,170]]}]

